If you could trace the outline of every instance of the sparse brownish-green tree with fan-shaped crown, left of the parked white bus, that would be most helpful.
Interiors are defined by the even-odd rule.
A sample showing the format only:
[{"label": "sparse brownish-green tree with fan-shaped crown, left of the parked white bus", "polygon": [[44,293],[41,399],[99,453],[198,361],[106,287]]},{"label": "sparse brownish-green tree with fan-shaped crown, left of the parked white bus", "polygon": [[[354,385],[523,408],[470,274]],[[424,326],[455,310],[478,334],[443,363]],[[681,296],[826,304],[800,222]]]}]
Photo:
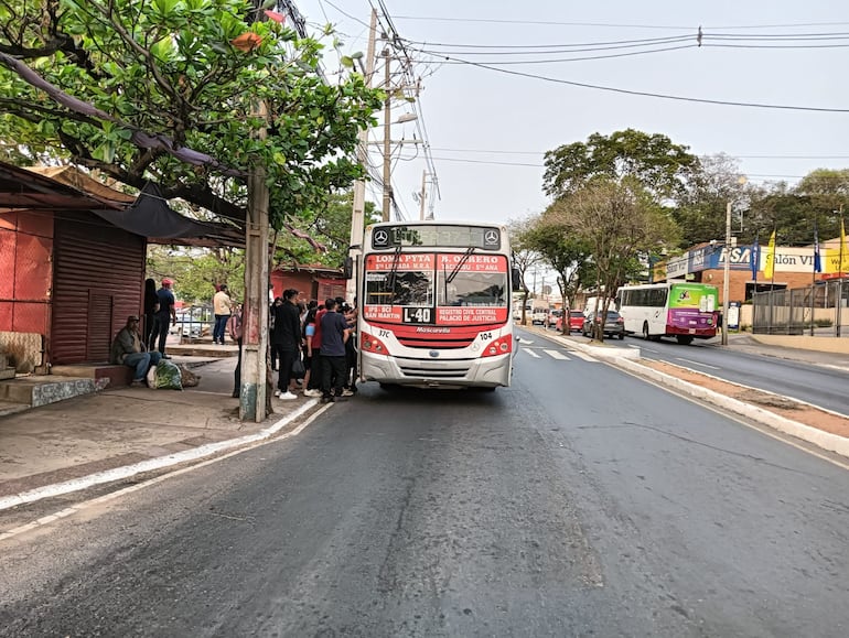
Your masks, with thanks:
[{"label": "sparse brownish-green tree with fan-shaped crown, left of the parked white bus", "polygon": [[[642,269],[637,256],[668,241],[677,231],[651,194],[632,180],[592,180],[555,202],[549,215],[590,247],[605,314],[616,288]],[[599,331],[597,338],[603,340],[603,332]]]}]

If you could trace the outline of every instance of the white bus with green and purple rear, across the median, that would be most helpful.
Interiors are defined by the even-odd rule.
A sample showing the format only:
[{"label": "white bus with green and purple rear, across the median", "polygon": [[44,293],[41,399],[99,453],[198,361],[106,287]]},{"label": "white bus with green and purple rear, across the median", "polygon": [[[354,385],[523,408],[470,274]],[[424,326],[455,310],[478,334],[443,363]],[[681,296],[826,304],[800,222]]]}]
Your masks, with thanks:
[{"label": "white bus with green and purple rear, across the median", "polygon": [[615,301],[626,333],[645,339],[675,337],[687,345],[717,336],[718,299],[716,285],[668,281],[623,285]]}]

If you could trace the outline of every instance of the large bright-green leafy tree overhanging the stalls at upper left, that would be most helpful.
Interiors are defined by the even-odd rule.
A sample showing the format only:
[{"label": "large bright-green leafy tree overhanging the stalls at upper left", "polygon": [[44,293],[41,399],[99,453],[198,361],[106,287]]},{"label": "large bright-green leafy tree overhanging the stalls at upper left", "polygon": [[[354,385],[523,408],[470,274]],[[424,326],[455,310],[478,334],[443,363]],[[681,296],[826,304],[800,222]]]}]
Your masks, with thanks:
[{"label": "large bright-green leafy tree overhanging the stalls at upper left", "polygon": [[[272,227],[310,220],[363,175],[351,156],[381,93],[356,73],[325,84],[321,44],[255,2],[8,0],[0,95],[13,97],[0,98],[0,139],[15,144],[4,159],[69,161],[136,188],[152,180],[165,198],[235,221],[262,165]],[[268,120],[252,115],[260,100]]]}]

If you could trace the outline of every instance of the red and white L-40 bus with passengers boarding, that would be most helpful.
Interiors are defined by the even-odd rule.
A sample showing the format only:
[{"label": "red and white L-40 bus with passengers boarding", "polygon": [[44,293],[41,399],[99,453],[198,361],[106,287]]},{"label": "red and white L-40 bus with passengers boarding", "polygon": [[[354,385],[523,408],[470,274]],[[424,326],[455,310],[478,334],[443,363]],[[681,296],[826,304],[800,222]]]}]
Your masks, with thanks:
[{"label": "red and white L-40 bus with passengers boarding", "polygon": [[453,221],[366,227],[357,284],[359,378],[387,386],[511,385],[518,272],[507,229]]}]

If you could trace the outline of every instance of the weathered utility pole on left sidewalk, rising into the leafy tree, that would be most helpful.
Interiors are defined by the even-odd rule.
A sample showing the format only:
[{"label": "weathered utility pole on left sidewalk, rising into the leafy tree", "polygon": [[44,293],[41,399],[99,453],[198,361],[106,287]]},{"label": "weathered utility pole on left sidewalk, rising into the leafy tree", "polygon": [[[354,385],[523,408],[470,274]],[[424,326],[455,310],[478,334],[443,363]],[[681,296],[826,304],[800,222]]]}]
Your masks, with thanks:
[{"label": "weathered utility pole on left sidewalk, rising into the leafy tree", "polygon": [[[267,120],[268,108],[257,101],[251,113]],[[257,132],[266,138],[266,128]],[[245,303],[243,304],[241,387],[239,419],[264,421],[267,413],[266,380],[268,350],[268,186],[266,167],[254,166],[248,181],[245,227]]]}]

